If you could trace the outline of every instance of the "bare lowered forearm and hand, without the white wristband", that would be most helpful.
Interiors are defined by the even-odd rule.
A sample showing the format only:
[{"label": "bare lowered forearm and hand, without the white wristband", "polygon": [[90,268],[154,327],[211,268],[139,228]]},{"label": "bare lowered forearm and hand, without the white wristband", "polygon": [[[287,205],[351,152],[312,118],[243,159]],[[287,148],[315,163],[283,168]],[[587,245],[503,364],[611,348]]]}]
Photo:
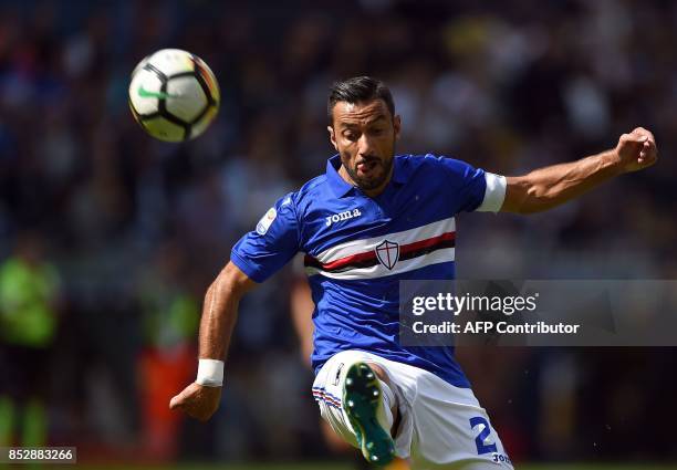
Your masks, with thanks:
[{"label": "bare lowered forearm and hand, without the white wristband", "polygon": [[[256,283],[237,265],[229,262],[207,290],[202,320],[200,321],[200,359],[223,361],[238,316],[240,299]],[[207,420],[215,414],[221,399],[220,386],[188,385],[171,398],[169,408],[184,410],[199,420]]]}]

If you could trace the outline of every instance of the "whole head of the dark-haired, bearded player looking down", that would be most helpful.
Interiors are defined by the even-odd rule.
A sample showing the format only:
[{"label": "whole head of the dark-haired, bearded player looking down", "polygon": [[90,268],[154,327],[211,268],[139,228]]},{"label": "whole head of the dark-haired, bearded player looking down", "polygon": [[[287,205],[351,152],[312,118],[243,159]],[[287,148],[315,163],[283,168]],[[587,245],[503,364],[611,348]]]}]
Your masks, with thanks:
[{"label": "whole head of the dark-haired, bearded player looking down", "polygon": [[378,192],[393,174],[400,118],[388,87],[356,76],[334,83],[329,103],[329,133],[345,173],[363,190]]}]

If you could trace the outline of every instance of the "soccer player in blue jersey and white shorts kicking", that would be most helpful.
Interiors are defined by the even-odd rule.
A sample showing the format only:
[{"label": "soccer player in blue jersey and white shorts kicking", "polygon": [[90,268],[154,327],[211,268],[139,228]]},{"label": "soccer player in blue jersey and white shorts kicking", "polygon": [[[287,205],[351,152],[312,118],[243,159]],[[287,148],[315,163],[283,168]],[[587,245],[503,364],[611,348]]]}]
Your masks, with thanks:
[{"label": "soccer player in blue jersey and white shorts kicking", "polygon": [[332,428],[373,463],[396,453],[413,469],[512,468],[454,349],[398,343],[398,282],[455,276],[458,212],[550,209],[655,164],[654,136],[637,127],[613,149],[506,178],[395,156],[400,117],[375,79],[335,83],[327,114],[338,154],[233,247],[205,297],[197,379],[170,407],[202,420],[216,411],[238,302],[302,251],[315,303],[312,390]]}]

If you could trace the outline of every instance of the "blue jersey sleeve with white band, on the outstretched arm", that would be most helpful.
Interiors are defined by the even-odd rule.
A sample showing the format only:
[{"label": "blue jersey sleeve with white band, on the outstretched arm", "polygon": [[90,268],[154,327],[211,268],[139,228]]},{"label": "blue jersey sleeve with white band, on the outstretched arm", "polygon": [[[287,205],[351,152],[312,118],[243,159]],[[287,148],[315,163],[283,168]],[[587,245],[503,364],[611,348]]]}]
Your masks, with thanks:
[{"label": "blue jersey sleeve with white band, on the outstretched arm", "polygon": [[506,197],[506,178],[454,158],[438,158],[447,170],[445,188],[455,212],[497,212]]}]

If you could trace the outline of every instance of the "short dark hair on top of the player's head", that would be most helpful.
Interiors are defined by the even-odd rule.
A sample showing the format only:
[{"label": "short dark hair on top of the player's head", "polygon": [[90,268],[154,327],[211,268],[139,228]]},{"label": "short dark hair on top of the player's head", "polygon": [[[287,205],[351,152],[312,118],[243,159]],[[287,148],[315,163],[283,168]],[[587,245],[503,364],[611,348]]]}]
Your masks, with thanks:
[{"label": "short dark hair on top of the player's head", "polygon": [[334,124],[333,111],[340,101],[355,104],[373,100],[383,100],[390,112],[390,116],[395,116],[393,95],[390,90],[381,80],[372,76],[353,76],[352,79],[334,82],[326,103],[326,117],[330,126]]}]

